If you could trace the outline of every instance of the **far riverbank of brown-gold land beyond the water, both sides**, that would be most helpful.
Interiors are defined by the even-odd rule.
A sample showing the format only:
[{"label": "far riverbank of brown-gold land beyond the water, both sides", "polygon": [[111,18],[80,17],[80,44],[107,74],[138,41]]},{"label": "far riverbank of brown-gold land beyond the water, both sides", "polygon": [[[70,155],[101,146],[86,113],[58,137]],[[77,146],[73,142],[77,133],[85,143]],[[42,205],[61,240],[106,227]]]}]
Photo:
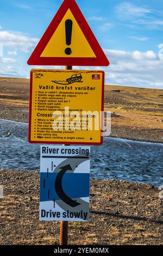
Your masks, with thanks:
[{"label": "far riverbank of brown-gold land beyond the water, both sides", "polygon": [[[28,123],[29,80],[0,77],[0,118]],[[111,114],[110,137],[163,142],[163,92],[105,86],[104,109]]]}]

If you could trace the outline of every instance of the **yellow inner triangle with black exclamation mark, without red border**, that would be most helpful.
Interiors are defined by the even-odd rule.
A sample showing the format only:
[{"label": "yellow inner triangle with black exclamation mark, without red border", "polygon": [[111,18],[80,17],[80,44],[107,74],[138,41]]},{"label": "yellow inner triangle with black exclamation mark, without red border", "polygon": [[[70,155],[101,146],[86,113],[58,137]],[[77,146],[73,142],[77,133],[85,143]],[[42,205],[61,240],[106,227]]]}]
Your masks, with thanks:
[{"label": "yellow inner triangle with black exclamation mark, without red border", "polygon": [[[68,21],[71,21],[70,25]],[[67,48],[70,49],[68,54],[65,51]],[[67,10],[41,57],[96,57],[70,9]]]}]

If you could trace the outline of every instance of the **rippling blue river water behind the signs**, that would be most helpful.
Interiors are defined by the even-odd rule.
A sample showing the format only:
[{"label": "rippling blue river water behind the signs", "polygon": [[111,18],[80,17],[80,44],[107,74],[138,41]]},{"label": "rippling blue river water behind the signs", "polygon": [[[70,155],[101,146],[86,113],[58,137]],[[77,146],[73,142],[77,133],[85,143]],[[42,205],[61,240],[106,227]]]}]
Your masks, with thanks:
[{"label": "rippling blue river water behind the signs", "polygon": [[[0,119],[0,169],[39,172],[40,145],[28,143],[28,124]],[[105,137],[91,146],[91,178],[163,185],[163,144]]]}]

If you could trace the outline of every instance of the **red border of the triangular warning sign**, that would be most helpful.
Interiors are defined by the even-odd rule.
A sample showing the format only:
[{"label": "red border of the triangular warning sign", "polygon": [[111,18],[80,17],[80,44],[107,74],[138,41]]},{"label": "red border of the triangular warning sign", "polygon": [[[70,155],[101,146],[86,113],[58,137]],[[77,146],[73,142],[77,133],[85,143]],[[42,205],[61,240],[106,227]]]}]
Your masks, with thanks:
[{"label": "red border of the triangular warning sign", "polygon": [[[82,29],[87,41],[89,42],[93,52],[96,54],[96,58],[82,58],[82,57],[40,57],[41,53],[45,49],[48,41],[56,31],[60,21],[65,16],[67,10],[70,9],[74,18],[76,19],[79,27]],[[32,55],[28,59],[28,65],[64,65],[64,66],[108,66],[109,60],[106,58],[101,46],[99,45],[95,35],[91,31],[85,17],[80,11],[76,1],[64,0],[61,4],[57,14],[55,14],[52,22],[46,29],[39,43],[37,44]]]}]

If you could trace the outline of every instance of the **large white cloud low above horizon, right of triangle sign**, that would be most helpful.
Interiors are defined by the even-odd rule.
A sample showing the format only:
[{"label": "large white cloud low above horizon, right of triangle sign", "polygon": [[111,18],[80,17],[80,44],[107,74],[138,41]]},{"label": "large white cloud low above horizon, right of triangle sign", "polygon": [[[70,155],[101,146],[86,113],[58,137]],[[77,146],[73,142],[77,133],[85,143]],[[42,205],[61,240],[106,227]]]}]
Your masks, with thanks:
[{"label": "large white cloud low above horizon, right of triangle sign", "polygon": [[163,89],[160,60],[153,51],[105,50],[110,66],[104,68],[108,84]]}]

